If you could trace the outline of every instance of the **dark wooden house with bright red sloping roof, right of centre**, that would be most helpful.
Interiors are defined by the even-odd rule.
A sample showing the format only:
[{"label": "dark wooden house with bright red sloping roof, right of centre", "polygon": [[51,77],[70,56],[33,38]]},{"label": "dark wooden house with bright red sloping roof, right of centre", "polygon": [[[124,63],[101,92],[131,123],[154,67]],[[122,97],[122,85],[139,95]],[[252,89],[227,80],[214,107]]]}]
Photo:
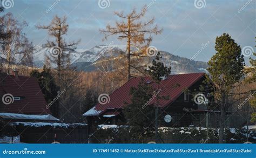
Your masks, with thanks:
[{"label": "dark wooden house with bright red sloping roof, right of centre", "polygon": [[[131,102],[129,94],[131,87],[136,87],[142,78],[132,78],[123,86],[109,95],[109,102],[104,105],[97,104],[83,115],[86,117],[89,126],[100,124],[125,125],[124,107]],[[160,126],[172,127],[217,127],[218,109],[211,110],[207,107],[209,100],[213,100],[205,90],[201,92],[200,86],[207,87],[203,83],[205,73],[174,74],[160,82],[160,95],[169,96],[169,99],[159,101]],[[157,85],[150,77],[144,77],[146,84],[151,84],[155,89]],[[207,88],[206,88],[207,89]],[[158,91],[159,91],[158,90]],[[195,97],[203,99],[203,102],[196,101]],[[195,102],[196,101],[196,102]],[[126,104],[127,103],[127,104]],[[150,104],[156,103],[156,98]],[[171,122],[165,122],[166,115],[171,115]]]}]

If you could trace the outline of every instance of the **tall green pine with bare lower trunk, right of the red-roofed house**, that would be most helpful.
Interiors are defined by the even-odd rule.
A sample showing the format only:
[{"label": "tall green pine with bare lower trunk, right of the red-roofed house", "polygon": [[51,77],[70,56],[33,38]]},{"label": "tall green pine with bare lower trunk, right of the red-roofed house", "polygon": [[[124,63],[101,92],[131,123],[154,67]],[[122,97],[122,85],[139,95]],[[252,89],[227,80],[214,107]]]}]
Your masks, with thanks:
[{"label": "tall green pine with bare lower trunk, right of the red-roofed house", "polygon": [[234,99],[231,97],[235,96],[232,92],[244,74],[245,63],[241,47],[227,33],[216,38],[215,50],[216,53],[208,61],[210,78],[207,77],[207,80],[213,84],[215,100],[220,105],[219,143],[223,143],[225,112],[232,105]]}]

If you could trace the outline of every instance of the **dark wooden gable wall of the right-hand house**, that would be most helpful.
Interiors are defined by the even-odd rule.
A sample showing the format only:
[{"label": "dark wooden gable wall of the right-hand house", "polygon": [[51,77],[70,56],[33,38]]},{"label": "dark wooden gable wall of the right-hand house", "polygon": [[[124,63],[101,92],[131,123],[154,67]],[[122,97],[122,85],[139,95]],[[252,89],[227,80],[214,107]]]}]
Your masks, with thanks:
[{"label": "dark wooden gable wall of the right-hand house", "polygon": [[[206,112],[190,112],[191,110],[197,109],[209,109],[211,107],[207,107],[205,105],[197,105],[194,102],[194,95],[198,93],[203,93],[205,96],[210,92],[201,92],[199,87],[206,86],[204,83],[204,78],[200,79],[193,86],[184,90],[184,93],[181,94],[171,105],[162,108],[159,112],[160,115],[160,126],[167,127],[189,127],[193,125],[195,127],[206,127]],[[188,98],[185,100],[185,93],[188,93]],[[207,97],[208,100],[213,101],[213,97]],[[208,105],[211,105],[209,102]],[[218,108],[214,108],[215,111]],[[170,123],[166,123],[164,121],[165,115],[171,115],[172,121]],[[219,113],[211,112],[208,113],[208,127],[215,128],[218,127],[218,118]]]}]

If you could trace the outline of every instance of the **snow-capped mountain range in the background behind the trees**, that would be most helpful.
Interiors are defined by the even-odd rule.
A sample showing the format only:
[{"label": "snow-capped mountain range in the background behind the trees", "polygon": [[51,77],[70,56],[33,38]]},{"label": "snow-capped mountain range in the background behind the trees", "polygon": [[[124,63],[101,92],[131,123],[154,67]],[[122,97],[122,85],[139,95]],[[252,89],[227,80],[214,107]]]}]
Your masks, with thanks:
[{"label": "snow-capped mountain range in the background behind the trees", "polygon": [[[42,67],[44,65],[45,54],[49,55],[50,49],[44,46],[35,46],[34,66]],[[126,51],[125,45],[98,45],[91,49],[77,49],[70,53],[71,65],[76,66],[78,70],[95,71],[97,70],[97,61],[101,58],[117,57],[120,53]],[[203,61],[191,61],[190,59],[174,56],[173,54],[160,51],[162,61],[166,66],[172,67],[173,74],[205,72],[207,63]],[[111,60],[111,59],[110,59]]]}]

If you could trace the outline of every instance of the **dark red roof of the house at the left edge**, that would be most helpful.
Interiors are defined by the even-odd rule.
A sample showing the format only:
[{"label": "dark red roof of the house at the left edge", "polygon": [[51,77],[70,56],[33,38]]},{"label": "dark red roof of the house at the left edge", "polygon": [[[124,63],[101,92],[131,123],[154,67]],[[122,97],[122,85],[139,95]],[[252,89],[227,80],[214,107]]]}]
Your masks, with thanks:
[{"label": "dark red roof of the house at the left edge", "polygon": [[[22,99],[5,105],[2,98],[6,93]],[[51,114],[50,110],[45,108],[46,101],[34,77],[18,76],[18,79],[15,79],[14,75],[0,74],[0,96],[1,113]]]}]

